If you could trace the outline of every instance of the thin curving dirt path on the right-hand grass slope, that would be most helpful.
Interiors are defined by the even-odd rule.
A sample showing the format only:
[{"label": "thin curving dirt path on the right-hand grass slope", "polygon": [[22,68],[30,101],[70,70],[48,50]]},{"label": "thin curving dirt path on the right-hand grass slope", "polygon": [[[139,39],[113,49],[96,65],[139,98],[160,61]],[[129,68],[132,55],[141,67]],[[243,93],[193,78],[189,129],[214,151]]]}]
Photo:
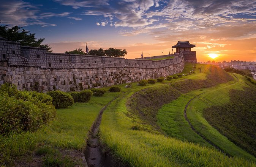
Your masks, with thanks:
[{"label": "thin curving dirt path on the right-hand grass slope", "polygon": [[[234,75],[234,74],[233,74],[233,75]],[[234,75],[234,76],[235,76],[235,75]],[[232,85],[232,84],[237,83],[237,82],[239,81],[239,79],[237,78],[237,76],[235,76],[235,78],[236,78],[237,80],[236,80],[234,83],[230,83],[230,84],[228,84],[228,85],[225,85],[224,87],[227,87],[227,86],[229,86],[229,85]],[[190,125],[190,128],[191,128],[194,132],[196,132],[196,134],[198,134],[199,136],[201,136],[201,138],[203,138],[206,142],[208,142],[209,144],[211,144],[211,145],[212,145],[213,147],[215,147],[217,150],[220,150],[222,153],[224,153],[224,154],[226,154],[227,156],[231,157],[231,155],[229,155],[228,153],[226,153],[224,150],[222,150],[220,147],[218,147],[218,146],[217,146],[216,144],[214,144],[212,141],[210,141],[209,139],[205,138],[205,136],[203,136],[201,133],[199,133],[199,131],[197,131],[197,130],[193,127],[193,125],[191,124],[191,122],[189,121],[189,119],[188,119],[188,117],[187,117],[187,115],[186,115],[186,110],[187,110],[188,105],[190,104],[190,102],[193,101],[193,99],[195,99],[196,97],[199,97],[200,95],[202,95],[202,94],[204,94],[204,93],[207,93],[207,92],[208,92],[208,91],[205,91],[205,92],[199,94],[198,96],[193,97],[192,99],[190,99],[190,101],[188,101],[188,103],[186,104],[186,107],[185,107],[185,109],[184,109],[184,117],[185,117],[186,121],[188,122],[188,124]]]}]

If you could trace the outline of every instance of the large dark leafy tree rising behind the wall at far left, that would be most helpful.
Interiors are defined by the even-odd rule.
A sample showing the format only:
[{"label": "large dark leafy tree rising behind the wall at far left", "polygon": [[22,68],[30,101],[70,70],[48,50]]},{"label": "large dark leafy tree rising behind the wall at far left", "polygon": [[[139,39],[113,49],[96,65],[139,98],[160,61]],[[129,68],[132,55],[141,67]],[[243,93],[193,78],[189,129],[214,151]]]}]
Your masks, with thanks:
[{"label": "large dark leafy tree rising behind the wall at far left", "polygon": [[8,28],[7,26],[8,25],[0,25],[0,37],[6,38],[7,40],[13,42],[19,42],[21,43],[21,46],[46,48],[47,52],[52,52],[51,47],[49,45],[42,45],[44,38],[40,38],[37,40],[35,38],[35,33],[31,34],[30,31],[22,29],[23,27],[14,26],[12,28]]}]

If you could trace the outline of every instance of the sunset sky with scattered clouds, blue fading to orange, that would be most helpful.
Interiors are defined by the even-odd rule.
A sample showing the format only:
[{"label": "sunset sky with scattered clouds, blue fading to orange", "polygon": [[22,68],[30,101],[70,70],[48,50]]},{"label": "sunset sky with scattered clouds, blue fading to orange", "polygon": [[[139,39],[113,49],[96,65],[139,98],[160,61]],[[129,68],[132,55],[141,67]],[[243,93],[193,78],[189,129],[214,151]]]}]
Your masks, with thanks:
[{"label": "sunset sky with scattered clouds, blue fading to orange", "polygon": [[[126,49],[125,58],[196,47],[199,62],[256,61],[255,0],[1,0],[1,25],[23,26],[56,53]],[[175,52],[175,49],[174,51]]]}]

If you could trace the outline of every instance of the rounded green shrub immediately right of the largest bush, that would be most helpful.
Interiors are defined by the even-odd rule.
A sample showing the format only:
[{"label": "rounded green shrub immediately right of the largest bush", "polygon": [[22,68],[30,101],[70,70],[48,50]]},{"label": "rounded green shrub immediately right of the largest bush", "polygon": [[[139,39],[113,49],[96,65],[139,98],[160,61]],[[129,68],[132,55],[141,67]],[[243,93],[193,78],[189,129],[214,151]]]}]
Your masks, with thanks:
[{"label": "rounded green shrub immediately right of the largest bush", "polygon": [[74,103],[72,96],[66,92],[54,90],[47,92],[47,94],[52,97],[52,104],[55,108],[68,108]]}]

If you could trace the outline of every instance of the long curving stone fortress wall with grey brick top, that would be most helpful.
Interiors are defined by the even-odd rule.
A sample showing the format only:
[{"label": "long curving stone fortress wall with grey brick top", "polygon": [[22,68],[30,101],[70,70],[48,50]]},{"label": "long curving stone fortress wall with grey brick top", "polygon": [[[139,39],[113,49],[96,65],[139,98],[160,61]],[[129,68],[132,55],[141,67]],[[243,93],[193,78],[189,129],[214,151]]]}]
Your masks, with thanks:
[{"label": "long curving stone fortress wall with grey brick top", "polygon": [[152,61],[47,53],[0,37],[0,85],[12,83],[19,90],[79,91],[168,76],[183,68],[183,54]]}]

